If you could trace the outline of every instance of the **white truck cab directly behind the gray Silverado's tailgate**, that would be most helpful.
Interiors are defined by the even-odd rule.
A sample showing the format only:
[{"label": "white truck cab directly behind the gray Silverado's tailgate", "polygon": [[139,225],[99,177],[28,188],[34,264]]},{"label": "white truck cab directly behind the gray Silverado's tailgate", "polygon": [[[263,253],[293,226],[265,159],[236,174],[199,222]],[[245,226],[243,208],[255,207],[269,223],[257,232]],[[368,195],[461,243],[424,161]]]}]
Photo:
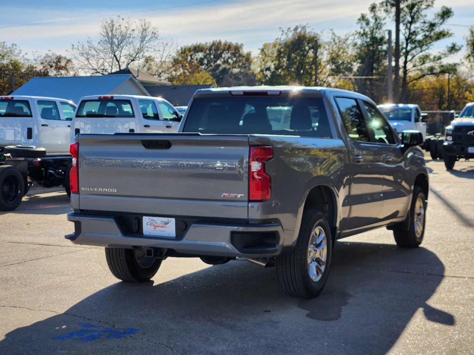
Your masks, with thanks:
[{"label": "white truck cab directly behind the gray Silverado's tailgate", "polygon": [[71,124],[78,133],[174,133],[182,115],[163,98],[137,95],[84,96]]}]

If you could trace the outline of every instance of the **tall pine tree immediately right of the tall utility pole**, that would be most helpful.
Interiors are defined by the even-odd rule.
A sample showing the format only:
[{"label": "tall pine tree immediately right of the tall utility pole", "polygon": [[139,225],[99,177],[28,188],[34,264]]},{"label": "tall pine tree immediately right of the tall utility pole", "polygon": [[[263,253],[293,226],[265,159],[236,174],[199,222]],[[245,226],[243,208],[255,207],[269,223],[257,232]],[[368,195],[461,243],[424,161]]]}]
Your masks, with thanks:
[{"label": "tall pine tree immediately right of the tall utility pole", "polygon": [[[442,6],[428,18],[433,8],[434,0],[401,0],[401,100],[408,98],[411,83],[446,72],[443,60],[461,50],[452,43],[444,50],[432,51],[435,44],[453,35],[442,26],[454,15],[451,8]],[[394,7],[389,5],[387,12],[392,17]]]}]

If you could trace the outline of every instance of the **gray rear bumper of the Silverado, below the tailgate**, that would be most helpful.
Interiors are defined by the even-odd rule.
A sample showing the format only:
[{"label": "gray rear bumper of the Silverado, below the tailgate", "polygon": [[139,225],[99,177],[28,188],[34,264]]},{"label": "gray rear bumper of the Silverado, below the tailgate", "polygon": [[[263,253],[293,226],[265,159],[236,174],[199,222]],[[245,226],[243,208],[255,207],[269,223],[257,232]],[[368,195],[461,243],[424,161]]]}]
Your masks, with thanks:
[{"label": "gray rear bumper of the Silverado, below the tailgate", "polygon": [[130,234],[114,216],[68,213],[74,234],[66,239],[74,244],[114,248],[167,248],[177,253],[227,257],[270,257],[283,247],[280,224],[193,223],[182,238]]}]

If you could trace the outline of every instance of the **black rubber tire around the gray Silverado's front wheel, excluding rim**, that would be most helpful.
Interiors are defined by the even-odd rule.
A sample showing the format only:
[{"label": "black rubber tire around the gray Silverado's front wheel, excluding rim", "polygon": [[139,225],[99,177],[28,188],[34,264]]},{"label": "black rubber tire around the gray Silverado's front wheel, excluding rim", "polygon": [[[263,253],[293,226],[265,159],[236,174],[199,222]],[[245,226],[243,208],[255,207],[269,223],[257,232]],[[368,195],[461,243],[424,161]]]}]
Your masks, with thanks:
[{"label": "black rubber tire around the gray Silverado's front wheel, excluding rim", "polygon": [[[423,205],[423,221],[421,224],[421,234],[417,235],[415,230],[415,209],[418,198],[421,198]],[[426,225],[426,196],[421,187],[413,188],[413,197],[410,204],[410,211],[405,221],[393,226],[393,237],[401,248],[417,248],[423,241]]]}]

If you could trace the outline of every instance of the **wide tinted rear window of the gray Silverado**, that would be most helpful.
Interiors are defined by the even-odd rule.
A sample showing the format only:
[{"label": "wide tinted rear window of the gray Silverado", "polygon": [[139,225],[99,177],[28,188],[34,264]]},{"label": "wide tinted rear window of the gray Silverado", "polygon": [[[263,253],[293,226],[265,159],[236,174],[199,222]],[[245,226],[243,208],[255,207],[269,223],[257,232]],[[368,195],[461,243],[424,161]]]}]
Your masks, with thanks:
[{"label": "wide tinted rear window of the gray Silverado", "polygon": [[332,137],[322,98],[195,98],[183,132]]}]

